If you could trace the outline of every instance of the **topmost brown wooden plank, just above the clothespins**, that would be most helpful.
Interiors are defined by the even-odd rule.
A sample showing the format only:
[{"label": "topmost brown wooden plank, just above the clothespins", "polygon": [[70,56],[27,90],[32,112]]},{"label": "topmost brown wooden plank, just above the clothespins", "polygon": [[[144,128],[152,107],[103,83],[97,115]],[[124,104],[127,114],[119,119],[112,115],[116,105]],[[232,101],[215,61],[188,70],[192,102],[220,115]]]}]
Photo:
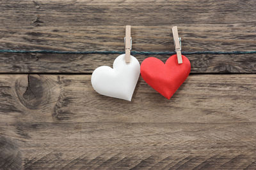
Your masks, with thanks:
[{"label": "topmost brown wooden plank, just above the clothespins", "polygon": [[[4,26],[241,24],[256,22],[255,1],[2,0]],[[246,23],[246,24],[245,24]]]}]

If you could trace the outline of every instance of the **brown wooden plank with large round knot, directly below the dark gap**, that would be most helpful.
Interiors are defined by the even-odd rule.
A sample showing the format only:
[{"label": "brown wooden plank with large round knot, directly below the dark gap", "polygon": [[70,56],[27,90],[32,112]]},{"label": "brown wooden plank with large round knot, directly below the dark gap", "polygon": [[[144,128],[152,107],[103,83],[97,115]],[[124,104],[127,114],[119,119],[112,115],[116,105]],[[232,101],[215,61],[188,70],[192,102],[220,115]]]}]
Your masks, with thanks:
[{"label": "brown wooden plank with large round knot, directly below the dark gap", "polygon": [[28,113],[19,117],[28,121],[32,110],[36,122],[52,122],[51,115],[68,122],[256,121],[255,74],[190,75],[170,101],[140,78],[131,102],[97,94],[90,77],[1,74],[2,112]]}]

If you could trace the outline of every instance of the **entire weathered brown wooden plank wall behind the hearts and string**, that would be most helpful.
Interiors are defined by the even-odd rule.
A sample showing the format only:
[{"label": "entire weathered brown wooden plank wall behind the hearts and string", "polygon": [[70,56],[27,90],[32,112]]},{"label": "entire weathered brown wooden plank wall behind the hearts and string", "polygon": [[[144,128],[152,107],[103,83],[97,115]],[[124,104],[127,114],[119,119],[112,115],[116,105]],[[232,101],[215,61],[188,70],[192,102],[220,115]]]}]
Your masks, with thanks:
[{"label": "entire weathered brown wooden plank wall behind the hearts and string", "polygon": [[[256,1],[1,0],[0,49],[256,50]],[[256,55],[187,55],[168,101],[131,102],[90,77],[117,55],[0,53],[0,169],[256,169]],[[148,56],[136,55],[142,62]],[[165,61],[168,55],[154,55]]]}]

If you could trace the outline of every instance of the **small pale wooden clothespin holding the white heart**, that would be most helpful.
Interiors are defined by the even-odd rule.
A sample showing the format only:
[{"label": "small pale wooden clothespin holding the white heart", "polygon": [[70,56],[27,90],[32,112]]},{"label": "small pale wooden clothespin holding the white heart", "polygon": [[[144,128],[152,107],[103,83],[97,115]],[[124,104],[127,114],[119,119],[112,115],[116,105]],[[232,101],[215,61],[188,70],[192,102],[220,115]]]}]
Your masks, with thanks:
[{"label": "small pale wooden clothespin holding the white heart", "polygon": [[126,25],[125,27],[125,62],[129,63],[131,61],[131,50],[132,50],[132,38],[131,38],[131,25]]}]

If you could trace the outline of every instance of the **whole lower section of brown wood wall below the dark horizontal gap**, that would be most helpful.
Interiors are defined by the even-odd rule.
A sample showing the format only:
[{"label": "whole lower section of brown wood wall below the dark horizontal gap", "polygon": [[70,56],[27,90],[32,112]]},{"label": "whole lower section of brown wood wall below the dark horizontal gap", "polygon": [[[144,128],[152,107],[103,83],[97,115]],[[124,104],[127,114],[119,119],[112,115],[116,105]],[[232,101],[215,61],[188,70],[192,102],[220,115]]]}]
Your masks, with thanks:
[{"label": "whole lower section of brown wood wall below the dark horizontal gap", "polygon": [[[0,75],[0,168],[255,169],[255,74],[191,75],[132,102],[90,75]],[[122,110],[122,111],[121,111]]]}]

